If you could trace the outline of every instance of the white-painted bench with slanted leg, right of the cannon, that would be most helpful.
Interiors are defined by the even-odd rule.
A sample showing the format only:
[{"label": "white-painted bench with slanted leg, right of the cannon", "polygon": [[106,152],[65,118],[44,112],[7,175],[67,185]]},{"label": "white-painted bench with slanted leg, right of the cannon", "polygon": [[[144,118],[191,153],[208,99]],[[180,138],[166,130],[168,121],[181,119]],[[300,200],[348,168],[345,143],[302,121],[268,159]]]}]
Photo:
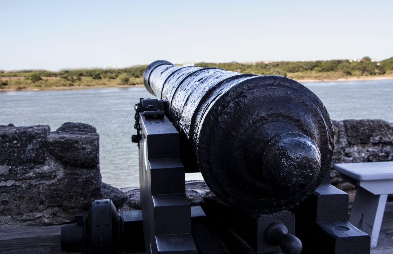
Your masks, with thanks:
[{"label": "white-painted bench with slanted leg, right of the cannon", "polygon": [[334,169],[357,185],[349,222],[371,237],[371,248],[378,243],[386,199],[393,193],[393,161],[340,163]]}]

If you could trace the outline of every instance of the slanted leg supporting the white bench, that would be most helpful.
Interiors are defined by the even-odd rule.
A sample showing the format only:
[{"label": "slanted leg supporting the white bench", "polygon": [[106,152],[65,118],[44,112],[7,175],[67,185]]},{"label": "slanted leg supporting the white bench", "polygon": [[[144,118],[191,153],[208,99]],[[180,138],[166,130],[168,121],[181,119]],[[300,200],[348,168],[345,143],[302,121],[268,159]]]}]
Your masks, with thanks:
[{"label": "slanted leg supporting the white bench", "polygon": [[387,194],[374,195],[358,186],[349,222],[371,237],[371,248],[378,243]]}]

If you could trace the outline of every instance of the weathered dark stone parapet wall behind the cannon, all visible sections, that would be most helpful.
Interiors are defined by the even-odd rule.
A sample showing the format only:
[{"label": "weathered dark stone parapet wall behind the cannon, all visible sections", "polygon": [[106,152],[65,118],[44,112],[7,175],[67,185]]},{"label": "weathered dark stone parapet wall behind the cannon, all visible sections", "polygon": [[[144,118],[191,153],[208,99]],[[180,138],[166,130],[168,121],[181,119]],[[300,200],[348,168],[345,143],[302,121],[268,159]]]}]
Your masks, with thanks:
[{"label": "weathered dark stone parapet wall behind the cannon, all visible sections", "polygon": [[[393,126],[382,120],[333,121],[332,163],[393,160]],[[334,170],[331,183],[353,199],[354,186]],[[186,183],[192,205],[212,195],[204,181]],[[139,188],[101,182],[99,135],[83,123],[0,125],[0,228],[62,224],[86,213],[92,200],[110,198],[120,210],[140,208]]]}]

